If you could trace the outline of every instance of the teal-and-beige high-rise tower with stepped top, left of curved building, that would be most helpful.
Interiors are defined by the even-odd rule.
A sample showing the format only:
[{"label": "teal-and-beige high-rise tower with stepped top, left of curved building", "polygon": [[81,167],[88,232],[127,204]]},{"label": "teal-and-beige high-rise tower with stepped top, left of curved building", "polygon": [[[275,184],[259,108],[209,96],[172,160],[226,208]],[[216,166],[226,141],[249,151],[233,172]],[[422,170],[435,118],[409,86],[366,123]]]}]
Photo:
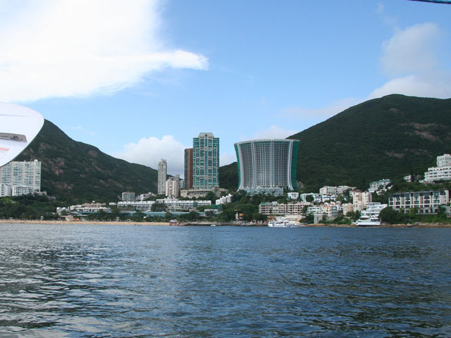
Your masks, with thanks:
[{"label": "teal-and-beige high-rise tower with stepped top, left of curved building", "polygon": [[211,132],[192,139],[192,187],[219,187],[219,138]]}]

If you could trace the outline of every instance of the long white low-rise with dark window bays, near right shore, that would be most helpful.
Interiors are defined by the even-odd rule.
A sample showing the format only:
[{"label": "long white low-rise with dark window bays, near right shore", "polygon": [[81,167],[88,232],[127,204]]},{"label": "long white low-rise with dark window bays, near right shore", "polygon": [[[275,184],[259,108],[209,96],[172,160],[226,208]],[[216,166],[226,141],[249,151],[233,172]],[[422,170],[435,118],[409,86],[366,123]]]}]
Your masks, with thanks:
[{"label": "long white low-rise with dark window bays, near right shore", "polygon": [[395,210],[408,211],[416,208],[419,213],[437,213],[440,206],[450,203],[448,190],[423,192],[398,192],[390,194],[388,206]]}]

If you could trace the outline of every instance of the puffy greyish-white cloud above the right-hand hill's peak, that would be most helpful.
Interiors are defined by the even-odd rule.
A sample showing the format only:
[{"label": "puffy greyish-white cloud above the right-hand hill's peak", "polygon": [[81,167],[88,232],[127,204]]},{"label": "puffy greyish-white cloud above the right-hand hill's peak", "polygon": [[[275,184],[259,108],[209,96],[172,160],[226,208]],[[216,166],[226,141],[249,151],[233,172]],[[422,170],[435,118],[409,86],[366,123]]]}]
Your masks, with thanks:
[{"label": "puffy greyish-white cloud above the right-hand hill's peak", "polygon": [[381,67],[390,80],[369,99],[388,94],[451,97],[451,73],[440,63],[443,35],[437,24],[424,23],[400,30],[384,42]]}]

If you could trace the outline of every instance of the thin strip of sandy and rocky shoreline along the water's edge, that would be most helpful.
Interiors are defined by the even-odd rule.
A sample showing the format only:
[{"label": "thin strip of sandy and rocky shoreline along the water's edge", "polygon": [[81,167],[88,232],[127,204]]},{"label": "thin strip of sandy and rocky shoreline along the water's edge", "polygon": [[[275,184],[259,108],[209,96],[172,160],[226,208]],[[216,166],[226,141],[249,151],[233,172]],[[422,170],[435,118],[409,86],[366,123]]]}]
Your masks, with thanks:
[{"label": "thin strip of sandy and rocky shoreline along the water's edge", "polygon": [[[108,221],[108,220],[0,220],[0,223],[8,224],[48,224],[48,225],[161,225],[171,226],[169,222],[132,222],[132,221]],[[266,225],[240,225],[236,223],[215,222],[218,226],[235,226],[235,227],[266,227]],[[188,223],[190,226],[210,226],[211,222],[206,223]],[[175,226],[177,227],[177,226]],[[356,225],[347,224],[306,224],[300,227],[357,227]],[[430,228],[447,228],[451,224],[446,223],[419,223],[411,224],[383,224],[372,227],[430,227]]]}]

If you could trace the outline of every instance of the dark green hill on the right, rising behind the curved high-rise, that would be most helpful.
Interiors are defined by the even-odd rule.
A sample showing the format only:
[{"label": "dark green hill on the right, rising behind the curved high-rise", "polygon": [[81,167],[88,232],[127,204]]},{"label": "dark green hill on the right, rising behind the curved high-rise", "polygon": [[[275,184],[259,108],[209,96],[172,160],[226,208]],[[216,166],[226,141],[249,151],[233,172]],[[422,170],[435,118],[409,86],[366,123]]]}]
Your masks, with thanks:
[{"label": "dark green hill on the right, rising behind the curved high-rise", "polygon": [[[300,141],[297,180],[306,191],[365,188],[373,180],[423,174],[436,156],[451,152],[451,99],[388,95],[288,138]],[[221,185],[237,187],[236,162],[221,167],[221,175]]]}]

